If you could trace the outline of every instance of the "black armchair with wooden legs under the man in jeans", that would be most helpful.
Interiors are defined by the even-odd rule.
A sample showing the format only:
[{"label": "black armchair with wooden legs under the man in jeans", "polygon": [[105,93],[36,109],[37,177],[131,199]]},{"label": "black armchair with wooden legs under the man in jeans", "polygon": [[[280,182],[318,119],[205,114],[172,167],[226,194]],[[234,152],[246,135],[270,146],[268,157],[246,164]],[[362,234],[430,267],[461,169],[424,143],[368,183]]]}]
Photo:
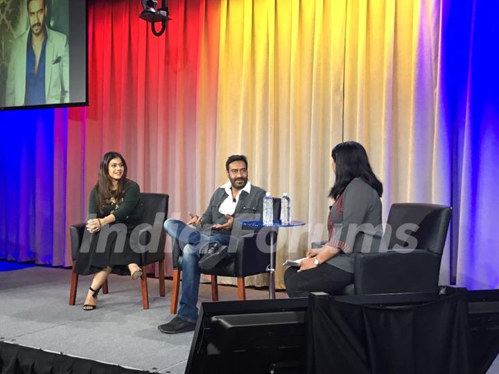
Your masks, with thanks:
[{"label": "black armchair with wooden legs under the man in jeans", "polygon": [[[274,197],[274,219],[278,219],[281,215],[281,199]],[[265,240],[263,247],[260,242],[257,247],[257,238],[265,233]],[[269,235],[270,234],[270,235]],[[266,272],[267,266],[270,264],[270,238],[273,236],[274,243],[277,242],[277,229],[261,229],[254,233],[234,237],[231,240],[229,248],[230,253],[235,253],[233,258],[225,258],[216,267],[209,270],[202,270],[203,274],[211,275],[211,299],[218,301],[218,283],[217,276],[232,276],[237,278],[238,299],[245,300],[245,276],[252,276]],[[172,238],[172,259],[173,259],[173,286],[172,286],[172,299],[170,304],[170,313],[177,313],[178,295],[180,287],[180,274],[182,273],[182,249],[177,240]],[[274,256],[275,264],[275,249],[272,253]],[[269,280],[270,281],[270,280]]]}]

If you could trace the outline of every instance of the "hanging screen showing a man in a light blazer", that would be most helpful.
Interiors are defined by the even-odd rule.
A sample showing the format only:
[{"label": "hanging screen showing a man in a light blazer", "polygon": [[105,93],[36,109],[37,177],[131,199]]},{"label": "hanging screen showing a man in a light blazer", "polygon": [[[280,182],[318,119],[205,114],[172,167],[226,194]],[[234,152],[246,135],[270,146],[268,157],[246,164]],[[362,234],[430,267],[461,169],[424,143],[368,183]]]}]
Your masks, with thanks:
[{"label": "hanging screen showing a man in a light blazer", "polygon": [[3,0],[0,109],[87,105],[87,0]]}]

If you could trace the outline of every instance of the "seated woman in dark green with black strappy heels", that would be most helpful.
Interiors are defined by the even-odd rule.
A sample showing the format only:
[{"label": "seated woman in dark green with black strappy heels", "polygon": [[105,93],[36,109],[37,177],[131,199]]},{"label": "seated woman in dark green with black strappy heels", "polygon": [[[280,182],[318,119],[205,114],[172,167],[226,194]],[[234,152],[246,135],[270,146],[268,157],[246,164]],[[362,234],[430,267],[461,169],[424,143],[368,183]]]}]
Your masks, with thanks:
[{"label": "seated woman in dark green with black strappy heels", "polygon": [[137,265],[140,255],[130,247],[130,234],[141,218],[140,188],[126,176],[123,156],[104,154],[89,199],[86,229],[91,235],[84,235],[76,258],[77,274],[94,274],[84,310],[96,308],[97,294],[111,272],[132,274],[133,279],[142,275]]}]

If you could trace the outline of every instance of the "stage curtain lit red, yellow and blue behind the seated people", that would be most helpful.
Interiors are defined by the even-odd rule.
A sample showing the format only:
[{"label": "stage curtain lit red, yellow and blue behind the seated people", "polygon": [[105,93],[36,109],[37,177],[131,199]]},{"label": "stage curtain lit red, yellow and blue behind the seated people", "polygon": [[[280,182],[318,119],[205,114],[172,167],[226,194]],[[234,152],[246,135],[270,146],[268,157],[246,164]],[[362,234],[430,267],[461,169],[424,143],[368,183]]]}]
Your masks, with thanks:
[{"label": "stage curtain lit red, yellow and blue behind the seated people", "polygon": [[69,265],[68,225],[118,150],[183,220],[226,180],[227,156],[246,154],[252,183],[289,193],[308,223],[279,231],[279,265],[326,238],[331,148],[356,140],[384,183],[385,219],[394,202],[453,206],[441,283],[499,287],[498,4],[170,0],[162,37],[139,1],[89,4],[89,107],[0,113],[0,258]]}]

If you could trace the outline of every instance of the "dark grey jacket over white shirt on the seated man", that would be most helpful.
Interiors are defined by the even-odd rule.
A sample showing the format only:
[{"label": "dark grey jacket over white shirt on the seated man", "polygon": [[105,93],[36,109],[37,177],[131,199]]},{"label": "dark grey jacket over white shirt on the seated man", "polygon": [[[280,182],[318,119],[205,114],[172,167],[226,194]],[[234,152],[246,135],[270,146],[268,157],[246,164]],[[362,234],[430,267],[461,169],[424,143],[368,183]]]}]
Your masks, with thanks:
[{"label": "dark grey jacket over white shirt on the seated man", "polygon": [[226,233],[227,235],[235,234],[234,231],[241,230],[241,225],[237,224],[240,221],[254,221],[260,220],[263,213],[263,197],[265,190],[252,184],[251,190],[247,193],[242,190],[239,195],[238,204],[234,211],[234,224],[232,229],[229,230],[216,230],[211,229],[213,224],[225,224],[227,218],[218,210],[220,204],[227,199],[229,195],[225,192],[225,188],[219,187],[215,190],[209,201],[207,210],[201,216],[203,221],[202,231],[212,231],[212,233]]}]

